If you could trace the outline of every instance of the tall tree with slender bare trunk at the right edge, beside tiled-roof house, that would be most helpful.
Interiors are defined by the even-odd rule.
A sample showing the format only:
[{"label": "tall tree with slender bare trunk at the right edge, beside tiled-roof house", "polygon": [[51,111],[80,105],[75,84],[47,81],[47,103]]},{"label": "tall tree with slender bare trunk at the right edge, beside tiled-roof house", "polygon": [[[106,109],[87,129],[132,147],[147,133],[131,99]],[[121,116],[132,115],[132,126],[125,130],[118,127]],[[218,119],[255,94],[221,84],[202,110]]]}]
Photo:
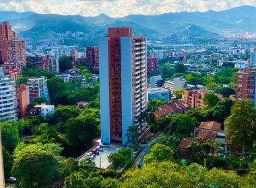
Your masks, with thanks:
[{"label": "tall tree with slender bare trunk at the right edge, beside tiled-roof house", "polygon": [[227,139],[232,140],[235,146],[245,147],[245,161],[247,151],[253,147],[256,140],[256,113],[254,104],[250,100],[236,101],[231,107],[231,115],[226,122]]}]

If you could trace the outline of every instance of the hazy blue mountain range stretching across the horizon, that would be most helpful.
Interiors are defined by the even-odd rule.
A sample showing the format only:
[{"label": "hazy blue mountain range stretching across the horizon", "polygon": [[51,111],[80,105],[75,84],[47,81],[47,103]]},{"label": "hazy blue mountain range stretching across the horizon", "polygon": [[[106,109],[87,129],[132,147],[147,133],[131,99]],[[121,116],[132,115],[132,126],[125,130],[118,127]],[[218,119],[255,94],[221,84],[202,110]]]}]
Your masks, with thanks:
[{"label": "hazy blue mountain range stretching across the horizon", "polygon": [[33,12],[0,11],[0,21],[9,21],[24,38],[53,38],[67,30],[106,34],[110,27],[131,27],[133,34],[179,34],[181,36],[216,37],[224,32],[256,32],[256,7],[241,6],[225,11],[164,13],[161,15],[127,15],[95,17],[53,15]]}]

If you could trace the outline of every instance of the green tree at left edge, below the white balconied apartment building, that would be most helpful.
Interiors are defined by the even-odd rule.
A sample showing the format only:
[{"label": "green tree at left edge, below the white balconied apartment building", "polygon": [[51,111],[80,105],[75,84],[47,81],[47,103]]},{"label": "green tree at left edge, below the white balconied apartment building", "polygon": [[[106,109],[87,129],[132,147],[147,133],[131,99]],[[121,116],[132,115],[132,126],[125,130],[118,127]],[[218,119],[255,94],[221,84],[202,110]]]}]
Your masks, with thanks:
[{"label": "green tree at left edge, below the white balconied apartment building", "polygon": [[20,136],[18,132],[18,128],[15,128],[11,123],[5,122],[0,125],[1,126],[1,135],[3,147],[8,152],[13,152],[15,147],[20,142]]}]

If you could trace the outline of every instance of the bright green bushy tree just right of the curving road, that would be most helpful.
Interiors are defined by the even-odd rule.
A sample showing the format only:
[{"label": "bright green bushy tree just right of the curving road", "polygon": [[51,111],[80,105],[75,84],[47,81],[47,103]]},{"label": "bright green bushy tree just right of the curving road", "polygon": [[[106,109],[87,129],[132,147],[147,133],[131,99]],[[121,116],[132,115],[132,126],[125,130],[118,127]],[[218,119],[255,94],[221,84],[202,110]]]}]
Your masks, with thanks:
[{"label": "bright green bushy tree just right of the curving road", "polygon": [[173,161],[173,154],[174,152],[170,147],[156,143],[150,148],[150,153],[144,157],[143,162],[148,164],[150,162]]}]

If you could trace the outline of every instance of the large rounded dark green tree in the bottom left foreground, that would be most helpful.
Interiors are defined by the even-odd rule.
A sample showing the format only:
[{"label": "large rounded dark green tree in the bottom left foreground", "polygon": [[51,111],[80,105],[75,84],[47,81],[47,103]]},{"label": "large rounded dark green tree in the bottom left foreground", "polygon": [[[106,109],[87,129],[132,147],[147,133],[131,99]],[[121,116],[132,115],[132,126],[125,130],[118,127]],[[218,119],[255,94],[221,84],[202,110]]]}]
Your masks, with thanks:
[{"label": "large rounded dark green tree in the bottom left foreground", "polygon": [[58,176],[57,160],[51,152],[27,150],[14,160],[12,174],[21,187],[49,187]]}]

